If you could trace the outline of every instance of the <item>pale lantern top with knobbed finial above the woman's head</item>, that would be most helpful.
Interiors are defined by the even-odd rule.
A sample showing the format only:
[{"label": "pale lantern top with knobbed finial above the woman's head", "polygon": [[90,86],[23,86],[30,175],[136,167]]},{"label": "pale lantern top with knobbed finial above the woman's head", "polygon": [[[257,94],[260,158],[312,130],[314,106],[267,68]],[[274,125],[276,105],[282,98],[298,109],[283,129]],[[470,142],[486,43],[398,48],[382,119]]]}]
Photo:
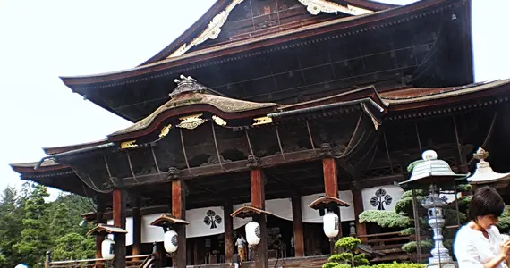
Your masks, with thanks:
[{"label": "pale lantern top with knobbed finial above the woman's head", "polygon": [[502,180],[510,180],[510,173],[494,172],[490,167],[490,163],[485,161],[489,157],[489,152],[483,148],[478,148],[473,158],[478,159],[480,162],[476,164],[476,170],[471,177],[467,180],[471,184],[489,184],[500,182]]}]

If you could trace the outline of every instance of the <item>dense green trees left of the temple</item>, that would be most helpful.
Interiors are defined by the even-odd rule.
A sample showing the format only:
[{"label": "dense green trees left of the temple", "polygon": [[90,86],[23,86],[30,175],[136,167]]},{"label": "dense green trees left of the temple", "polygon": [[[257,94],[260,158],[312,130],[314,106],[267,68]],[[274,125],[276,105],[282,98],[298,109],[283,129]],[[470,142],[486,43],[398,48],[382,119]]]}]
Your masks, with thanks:
[{"label": "dense green trees left of the temple", "polygon": [[[81,214],[91,202],[61,195],[47,202],[47,188],[25,183],[21,191],[7,187],[0,197],[0,267],[35,267],[51,250],[55,260],[92,258],[95,243],[85,237]],[[88,204],[88,205],[87,205]]]}]

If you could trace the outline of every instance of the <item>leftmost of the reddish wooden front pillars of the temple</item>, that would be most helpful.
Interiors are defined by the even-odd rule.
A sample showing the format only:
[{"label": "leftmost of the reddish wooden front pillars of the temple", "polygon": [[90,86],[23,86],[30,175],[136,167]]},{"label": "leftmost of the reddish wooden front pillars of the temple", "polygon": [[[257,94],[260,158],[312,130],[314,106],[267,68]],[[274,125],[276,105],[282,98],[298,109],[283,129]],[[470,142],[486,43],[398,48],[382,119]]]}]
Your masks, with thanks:
[{"label": "leftmost of the reddish wooden front pillars of the temple", "polygon": [[[113,193],[113,217],[114,226],[125,230],[126,228],[126,194],[122,188],[115,188]],[[115,241],[115,268],[125,268],[126,266],[126,235],[116,233]]]}]

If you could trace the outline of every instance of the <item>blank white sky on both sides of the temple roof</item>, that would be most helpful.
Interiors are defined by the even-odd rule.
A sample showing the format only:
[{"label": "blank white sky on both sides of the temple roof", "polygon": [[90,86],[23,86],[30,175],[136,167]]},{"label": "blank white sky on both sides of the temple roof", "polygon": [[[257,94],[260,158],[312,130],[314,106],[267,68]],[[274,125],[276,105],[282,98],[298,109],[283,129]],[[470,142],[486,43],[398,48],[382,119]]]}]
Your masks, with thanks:
[{"label": "blank white sky on both sides of the temple roof", "polygon": [[[0,0],[0,190],[21,185],[8,163],[35,162],[44,156],[41,147],[98,140],[130,125],[72,94],[58,76],[132,68],[213,2]],[[472,6],[476,80],[510,77],[510,1],[472,0]]]}]

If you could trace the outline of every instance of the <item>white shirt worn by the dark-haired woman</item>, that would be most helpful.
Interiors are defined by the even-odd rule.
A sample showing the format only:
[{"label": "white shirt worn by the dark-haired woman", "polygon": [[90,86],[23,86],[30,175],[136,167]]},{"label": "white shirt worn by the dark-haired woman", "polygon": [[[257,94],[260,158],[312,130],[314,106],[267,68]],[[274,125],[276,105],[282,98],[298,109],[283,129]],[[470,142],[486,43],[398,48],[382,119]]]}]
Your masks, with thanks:
[{"label": "white shirt worn by the dark-haired woman", "polygon": [[[480,230],[473,230],[463,226],[454,242],[454,253],[459,268],[483,268],[483,264],[489,263],[499,254],[499,247],[503,243],[503,236],[496,226],[487,230],[487,239]],[[505,261],[497,264],[497,268],[508,268]]]}]

